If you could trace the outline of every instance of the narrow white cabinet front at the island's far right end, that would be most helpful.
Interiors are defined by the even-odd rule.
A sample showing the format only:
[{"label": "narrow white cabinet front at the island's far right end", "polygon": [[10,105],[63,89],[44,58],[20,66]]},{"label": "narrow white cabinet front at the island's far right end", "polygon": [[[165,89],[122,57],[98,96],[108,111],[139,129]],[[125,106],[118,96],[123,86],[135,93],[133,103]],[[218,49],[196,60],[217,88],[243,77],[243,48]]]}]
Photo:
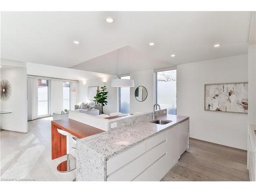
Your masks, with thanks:
[{"label": "narrow white cabinet front at the island's far right end", "polygon": [[189,120],[180,122],[178,126],[180,130],[180,155],[182,155],[188,149]]}]

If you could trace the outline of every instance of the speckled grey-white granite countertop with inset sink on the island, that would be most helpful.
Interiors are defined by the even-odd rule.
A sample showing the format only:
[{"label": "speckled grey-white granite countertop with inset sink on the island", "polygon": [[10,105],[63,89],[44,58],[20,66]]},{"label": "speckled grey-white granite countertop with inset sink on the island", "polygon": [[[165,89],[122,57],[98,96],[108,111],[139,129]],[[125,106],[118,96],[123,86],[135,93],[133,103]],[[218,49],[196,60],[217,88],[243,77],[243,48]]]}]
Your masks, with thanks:
[{"label": "speckled grey-white granite countertop with inset sink on the island", "polygon": [[91,150],[108,159],[163,130],[170,129],[179,122],[188,119],[188,117],[167,114],[159,116],[157,119],[168,119],[172,120],[172,122],[165,125],[138,122],[131,126],[116,128],[109,132],[78,139],[77,141],[80,142],[80,146],[89,147]]}]

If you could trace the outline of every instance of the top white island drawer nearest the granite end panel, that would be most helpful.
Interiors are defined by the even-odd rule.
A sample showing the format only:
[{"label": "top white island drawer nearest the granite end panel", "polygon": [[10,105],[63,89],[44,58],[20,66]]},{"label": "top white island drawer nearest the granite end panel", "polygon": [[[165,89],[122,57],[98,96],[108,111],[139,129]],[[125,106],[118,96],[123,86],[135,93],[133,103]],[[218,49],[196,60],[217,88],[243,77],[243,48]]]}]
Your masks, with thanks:
[{"label": "top white island drawer nearest the granite end panel", "polygon": [[127,151],[111,157],[106,161],[106,175],[110,175],[118,168],[124,166],[141,154],[145,153],[145,142],[142,142]]}]

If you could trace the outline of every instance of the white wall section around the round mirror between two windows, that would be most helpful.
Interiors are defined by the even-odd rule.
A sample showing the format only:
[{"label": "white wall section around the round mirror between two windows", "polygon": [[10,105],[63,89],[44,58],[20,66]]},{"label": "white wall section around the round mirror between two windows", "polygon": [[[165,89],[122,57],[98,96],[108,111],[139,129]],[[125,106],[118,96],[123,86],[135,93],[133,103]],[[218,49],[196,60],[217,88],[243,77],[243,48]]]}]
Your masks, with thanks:
[{"label": "white wall section around the round mirror between two windows", "polygon": [[[131,73],[131,79],[134,79],[135,84],[135,87],[130,89],[131,113],[152,112],[154,104],[154,70]],[[137,101],[134,96],[138,86],[144,86],[147,90],[147,98],[143,102]]]}]

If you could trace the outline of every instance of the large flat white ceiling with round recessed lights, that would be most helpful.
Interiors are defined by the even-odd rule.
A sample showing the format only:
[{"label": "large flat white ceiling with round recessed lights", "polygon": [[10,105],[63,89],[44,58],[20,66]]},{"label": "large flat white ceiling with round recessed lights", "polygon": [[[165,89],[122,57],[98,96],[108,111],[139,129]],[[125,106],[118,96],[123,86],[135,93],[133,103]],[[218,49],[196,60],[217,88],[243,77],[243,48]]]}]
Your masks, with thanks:
[{"label": "large flat white ceiling with round recessed lights", "polygon": [[[106,16],[115,23],[105,23]],[[1,57],[72,67],[131,46],[179,65],[246,54],[250,19],[251,12],[2,12]],[[155,46],[148,46],[150,41]],[[216,43],[221,47],[213,48]],[[99,67],[94,71],[103,72]]]}]

